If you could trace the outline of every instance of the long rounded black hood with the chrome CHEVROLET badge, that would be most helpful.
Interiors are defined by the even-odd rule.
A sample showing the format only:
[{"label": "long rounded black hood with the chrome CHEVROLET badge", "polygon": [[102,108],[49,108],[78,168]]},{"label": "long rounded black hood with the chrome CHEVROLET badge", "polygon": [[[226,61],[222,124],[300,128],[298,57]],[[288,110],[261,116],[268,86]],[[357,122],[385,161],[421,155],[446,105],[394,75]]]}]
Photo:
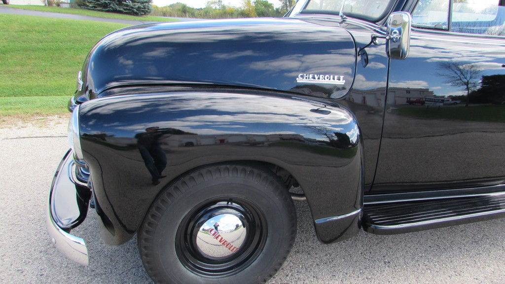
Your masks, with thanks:
[{"label": "long rounded black hood with the chrome CHEVROLET badge", "polygon": [[254,87],[339,98],[351,87],[355,69],[355,43],[343,28],[287,18],[235,19],[113,32],[94,46],[82,76],[90,98],[143,84]]}]

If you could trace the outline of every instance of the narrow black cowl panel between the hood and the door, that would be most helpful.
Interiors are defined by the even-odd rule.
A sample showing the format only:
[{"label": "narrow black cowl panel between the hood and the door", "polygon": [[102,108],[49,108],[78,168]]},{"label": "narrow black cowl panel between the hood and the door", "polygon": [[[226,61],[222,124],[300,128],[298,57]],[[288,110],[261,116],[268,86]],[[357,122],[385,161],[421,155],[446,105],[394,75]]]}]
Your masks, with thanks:
[{"label": "narrow black cowl panel between the hood and the door", "polygon": [[[385,40],[377,39],[378,44],[370,44],[371,34],[380,33],[376,24],[348,20],[318,19],[297,16],[312,23],[346,29],[355,40],[360,52],[357,57],[355,81],[349,93],[336,102],[351,110],[359,122],[364,141],[364,188],[372,187],[375,176],[379,145],[382,134],[383,116],[386,105],[386,86],[389,58],[386,55]],[[358,53],[358,52],[357,52]],[[366,64],[365,64],[366,63]]]}]

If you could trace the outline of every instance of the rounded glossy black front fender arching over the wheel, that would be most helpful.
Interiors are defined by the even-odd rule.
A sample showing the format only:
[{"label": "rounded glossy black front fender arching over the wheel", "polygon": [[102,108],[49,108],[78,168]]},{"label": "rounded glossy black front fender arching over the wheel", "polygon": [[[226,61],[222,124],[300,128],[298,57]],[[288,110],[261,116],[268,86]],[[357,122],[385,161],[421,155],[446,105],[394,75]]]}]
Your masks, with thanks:
[{"label": "rounded glossy black front fender arching over the wheel", "polygon": [[112,222],[103,230],[109,243],[128,240],[172,180],[228,161],[265,162],[291,173],[307,196],[321,241],[358,230],[363,148],[348,109],[252,90],[138,92],[80,107],[95,198],[107,215],[102,219]]}]

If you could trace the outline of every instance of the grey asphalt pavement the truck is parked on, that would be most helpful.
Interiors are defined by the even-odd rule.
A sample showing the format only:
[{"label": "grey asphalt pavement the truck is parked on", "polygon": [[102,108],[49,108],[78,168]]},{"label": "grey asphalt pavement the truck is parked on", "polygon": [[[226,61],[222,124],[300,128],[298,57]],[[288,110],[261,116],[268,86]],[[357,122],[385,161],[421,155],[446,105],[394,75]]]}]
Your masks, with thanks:
[{"label": "grey asphalt pavement the truck is parked on", "polygon": [[[96,214],[72,233],[90,264],[55,250],[45,229],[47,194],[67,150],[66,118],[0,126],[0,283],[151,283],[136,240],[114,247],[99,238]],[[360,233],[323,245],[310,211],[296,202],[298,234],[269,283],[504,283],[505,219],[400,235]]]}]

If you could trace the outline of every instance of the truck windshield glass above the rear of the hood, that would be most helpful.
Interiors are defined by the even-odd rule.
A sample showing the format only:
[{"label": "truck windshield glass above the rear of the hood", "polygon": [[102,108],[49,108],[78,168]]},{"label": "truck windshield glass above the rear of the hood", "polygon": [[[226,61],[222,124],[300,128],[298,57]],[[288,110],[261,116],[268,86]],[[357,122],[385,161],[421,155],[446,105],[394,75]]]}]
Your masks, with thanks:
[{"label": "truck windshield glass above the rear of the hood", "polygon": [[382,19],[394,0],[310,0],[301,13],[337,14],[340,8],[345,16],[377,21]]}]

